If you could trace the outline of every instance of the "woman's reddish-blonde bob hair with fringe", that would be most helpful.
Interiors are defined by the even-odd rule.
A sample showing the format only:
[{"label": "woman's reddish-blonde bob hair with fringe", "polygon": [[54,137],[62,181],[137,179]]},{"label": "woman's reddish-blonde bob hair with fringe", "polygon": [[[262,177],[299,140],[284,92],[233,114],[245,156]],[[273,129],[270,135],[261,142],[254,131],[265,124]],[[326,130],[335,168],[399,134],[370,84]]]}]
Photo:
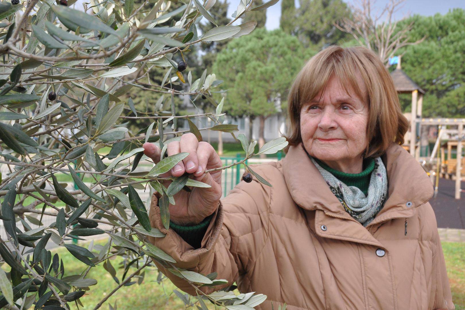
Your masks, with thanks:
[{"label": "woman's reddish-blonde bob hair with fringe", "polygon": [[[366,96],[361,93],[358,74],[365,83]],[[362,46],[330,46],[307,61],[289,90],[287,102],[290,126],[285,135],[289,145],[286,146],[285,152],[289,146],[302,142],[302,105],[314,99],[320,91],[323,93],[332,76],[342,81],[346,92],[352,89],[360,99],[366,97],[364,101],[369,107],[366,137],[369,143],[365,148],[364,158],[383,155],[392,142],[404,144],[409,122],[402,115],[391,75],[378,55]]]}]

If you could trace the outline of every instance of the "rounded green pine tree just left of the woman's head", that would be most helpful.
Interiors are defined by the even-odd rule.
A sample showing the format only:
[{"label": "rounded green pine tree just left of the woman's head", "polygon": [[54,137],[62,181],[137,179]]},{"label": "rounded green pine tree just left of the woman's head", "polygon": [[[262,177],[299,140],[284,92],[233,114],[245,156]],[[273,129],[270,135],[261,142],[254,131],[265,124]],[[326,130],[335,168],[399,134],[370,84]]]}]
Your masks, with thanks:
[{"label": "rounded green pine tree just left of the woman's head", "polygon": [[231,41],[218,54],[213,71],[229,89],[223,109],[233,117],[248,116],[251,122],[260,119],[260,147],[265,143],[265,120],[280,110],[279,100],[286,105],[292,79],[310,53],[296,37],[260,28]]}]

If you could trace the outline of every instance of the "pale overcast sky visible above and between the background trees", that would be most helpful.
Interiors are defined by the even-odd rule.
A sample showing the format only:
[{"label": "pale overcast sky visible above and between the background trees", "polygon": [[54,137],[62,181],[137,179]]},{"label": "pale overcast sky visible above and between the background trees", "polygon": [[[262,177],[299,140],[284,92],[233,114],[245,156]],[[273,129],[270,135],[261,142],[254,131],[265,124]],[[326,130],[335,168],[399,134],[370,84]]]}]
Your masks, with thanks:
[{"label": "pale overcast sky visible above and between the background trees", "polygon": [[[349,4],[357,4],[357,0],[344,0]],[[239,0],[228,0],[228,16],[231,15],[236,10],[239,5]],[[263,1],[266,2],[266,1]],[[375,11],[382,10],[384,6],[388,3],[388,0],[377,0],[375,2]],[[299,5],[299,0],[296,0],[296,5]],[[405,5],[399,9],[399,11],[394,15],[395,19],[401,19],[409,14],[420,14],[420,15],[434,15],[436,13],[445,14],[449,9],[460,7],[465,9],[465,0],[406,0]],[[272,7],[269,7],[266,10],[266,28],[268,30],[275,29],[279,27],[279,18],[281,16],[281,1],[275,4]],[[240,21],[241,19],[239,19]],[[241,22],[236,22],[234,24],[241,24]]]}]

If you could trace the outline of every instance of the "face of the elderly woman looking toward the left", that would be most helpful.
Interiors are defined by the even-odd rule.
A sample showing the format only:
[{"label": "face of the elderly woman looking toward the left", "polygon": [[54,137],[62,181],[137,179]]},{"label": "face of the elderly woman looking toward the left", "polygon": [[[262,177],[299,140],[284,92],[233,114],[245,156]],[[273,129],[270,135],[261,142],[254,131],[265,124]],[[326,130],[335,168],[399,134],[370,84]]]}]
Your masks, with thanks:
[{"label": "face of the elderly woman looking toward the left", "polygon": [[[360,76],[358,79],[367,98],[365,84]],[[339,79],[332,77],[325,92],[317,94],[300,110],[300,133],[306,151],[333,169],[360,173],[362,153],[367,146],[368,112],[365,99],[358,98],[352,90],[345,92]]]}]

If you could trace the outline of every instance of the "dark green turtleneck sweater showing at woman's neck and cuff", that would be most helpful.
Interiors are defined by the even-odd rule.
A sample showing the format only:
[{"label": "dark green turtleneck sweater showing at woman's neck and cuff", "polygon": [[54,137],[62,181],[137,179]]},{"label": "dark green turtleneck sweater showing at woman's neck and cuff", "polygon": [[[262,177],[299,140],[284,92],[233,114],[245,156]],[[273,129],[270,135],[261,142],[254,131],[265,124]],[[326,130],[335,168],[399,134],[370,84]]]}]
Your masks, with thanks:
[{"label": "dark green turtleneck sweater showing at woman's neck and cuff", "polygon": [[[345,173],[342,171],[338,171],[332,169],[324,162],[320,161],[317,158],[313,158],[315,161],[323,167],[328,172],[331,172],[333,176],[338,178],[341,182],[343,182],[347,186],[356,186],[362,191],[365,196],[368,193],[368,185],[370,185],[370,178],[372,171],[375,167],[375,160],[374,158],[368,158],[363,161],[363,171],[360,173]],[[179,236],[181,236],[184,241],[188,244],[192,245],[194,249],[200,248],[200,243],[205,235],[205,232],[210,224],[210,220],[212,219],[213,214],[206,217],[201,223],[192,225],[192,226],[183,226],[178,225],[170,221],[170,228],[176,231]]]}]

